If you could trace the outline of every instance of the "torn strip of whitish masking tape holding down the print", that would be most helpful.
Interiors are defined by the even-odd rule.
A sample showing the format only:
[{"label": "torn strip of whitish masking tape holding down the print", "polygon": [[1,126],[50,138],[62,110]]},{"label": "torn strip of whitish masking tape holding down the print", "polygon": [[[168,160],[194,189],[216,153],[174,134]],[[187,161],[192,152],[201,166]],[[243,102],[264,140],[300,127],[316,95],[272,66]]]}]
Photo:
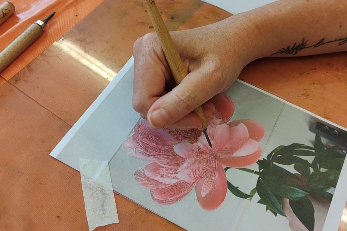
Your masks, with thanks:
[{"label": "torn strip of whitish masking tape holding down the print", "polygon": [[119,223],[108,161],[79,158],[89,231]]}]

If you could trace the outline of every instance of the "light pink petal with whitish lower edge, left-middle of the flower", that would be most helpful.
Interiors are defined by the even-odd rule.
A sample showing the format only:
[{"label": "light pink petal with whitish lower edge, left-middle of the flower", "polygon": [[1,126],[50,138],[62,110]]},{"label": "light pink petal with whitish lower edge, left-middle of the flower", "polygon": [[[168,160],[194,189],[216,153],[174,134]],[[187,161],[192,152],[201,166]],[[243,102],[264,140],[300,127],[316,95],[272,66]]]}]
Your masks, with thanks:
[{"label": "light pink petal with whitish lower edge, left-middle of the flower", "polygon": [[179,181],[176,177],[177,171],[177,168],[163,167],[158,163],[153,162],[145,166],[144,174],[161,183],[174,184]]}]

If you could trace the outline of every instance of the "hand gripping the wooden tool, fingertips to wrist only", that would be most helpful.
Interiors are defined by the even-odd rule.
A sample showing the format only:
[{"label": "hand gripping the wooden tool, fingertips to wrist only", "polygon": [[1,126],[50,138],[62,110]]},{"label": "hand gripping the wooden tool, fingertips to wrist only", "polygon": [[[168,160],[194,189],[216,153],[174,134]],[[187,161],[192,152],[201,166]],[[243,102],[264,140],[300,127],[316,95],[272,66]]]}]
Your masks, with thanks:
[{"label": "hand gripping the wooden tool, fingertips to wrist only", "polygon": [[257,58],[259,32],[237,15],[170,34],[189,74],[176,86],[156,34],[137,39],[133,107],[156,128],[200,128],[201,119],[192,111],[202,105],[206,120],[213,118],[212,97],[226,90]]}]

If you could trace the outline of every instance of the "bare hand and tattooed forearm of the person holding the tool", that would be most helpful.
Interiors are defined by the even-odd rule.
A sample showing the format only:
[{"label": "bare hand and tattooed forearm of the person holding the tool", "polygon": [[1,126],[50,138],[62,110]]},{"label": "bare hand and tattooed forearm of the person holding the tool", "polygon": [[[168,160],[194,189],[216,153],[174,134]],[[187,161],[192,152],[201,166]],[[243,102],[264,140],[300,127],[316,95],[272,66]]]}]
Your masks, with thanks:
[{"label": "bare hand and tattooed forearm of the person holding the tool", "polygon": [[[172,75],[160,42],[147,34],[133,48],[134,109],[154,127],[198,126],[201,120],[192,108],[230,87],[248,63],[347,51],[345,9],[345,0],[279,0],[215,24],[171,32],[188,69],[185,81],[172,91],[165,91]],[[152,114],[158,109],[167,113]]]}]

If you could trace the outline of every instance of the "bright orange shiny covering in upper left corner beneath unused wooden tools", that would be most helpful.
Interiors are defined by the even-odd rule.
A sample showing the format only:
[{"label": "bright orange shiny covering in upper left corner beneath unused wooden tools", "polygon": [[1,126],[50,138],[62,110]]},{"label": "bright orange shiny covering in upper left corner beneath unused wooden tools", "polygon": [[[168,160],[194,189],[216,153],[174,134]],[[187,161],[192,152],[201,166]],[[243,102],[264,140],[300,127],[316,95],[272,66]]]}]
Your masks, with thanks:
[{"label": "bright orange shiny covering in upper left corner beneath unused wooden tools", "polygon": [[[0,75],[11,79],[24,66],[33,61],[52,43],[75,26],[104,0],[11,0],[16,11],[0,25],[0,50],[2,51],[29,25],[45,19],[52,12],[56,15],[49,21],[45,33]],[[2,2],[1,2],[2,3]],[[1,4],[0,3],[0,4]]]}]

